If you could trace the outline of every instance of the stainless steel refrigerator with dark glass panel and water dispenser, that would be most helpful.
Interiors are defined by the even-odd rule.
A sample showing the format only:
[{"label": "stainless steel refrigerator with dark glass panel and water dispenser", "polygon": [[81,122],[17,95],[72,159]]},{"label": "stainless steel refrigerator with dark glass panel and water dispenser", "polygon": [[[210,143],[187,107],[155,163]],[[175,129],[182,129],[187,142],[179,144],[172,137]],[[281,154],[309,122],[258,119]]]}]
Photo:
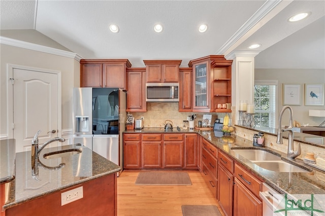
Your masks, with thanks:
[{"label": "stainless steel refrigerator with dark glass panel and water dispenser", "polygon": [[81,143],[122,168],[126,93],[118,88],[73,91],[73,143]]}]

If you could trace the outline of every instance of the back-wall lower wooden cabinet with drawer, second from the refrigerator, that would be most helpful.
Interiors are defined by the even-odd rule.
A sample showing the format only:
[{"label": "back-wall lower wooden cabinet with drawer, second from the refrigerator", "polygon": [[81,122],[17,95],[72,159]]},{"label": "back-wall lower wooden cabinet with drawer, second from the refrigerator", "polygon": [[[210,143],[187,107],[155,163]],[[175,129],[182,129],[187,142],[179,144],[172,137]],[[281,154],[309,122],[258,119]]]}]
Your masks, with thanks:
[{"label": "back-wall lower wooden cabinet with drawer, second from the refrigerator", "polygon": [[161,135],[142,134],[142,168],[161,167]]}]

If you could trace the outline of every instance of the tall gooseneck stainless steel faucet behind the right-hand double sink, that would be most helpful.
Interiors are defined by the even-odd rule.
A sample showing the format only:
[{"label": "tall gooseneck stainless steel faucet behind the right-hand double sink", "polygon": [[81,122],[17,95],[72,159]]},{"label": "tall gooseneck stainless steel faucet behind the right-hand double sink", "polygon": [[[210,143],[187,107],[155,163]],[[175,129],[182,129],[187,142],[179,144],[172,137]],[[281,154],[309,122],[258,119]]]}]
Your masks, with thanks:
[{"label": "tall gooseneck stainless steel faucet behind the right-hand double sink", "polygon": [[[289,126],[288,128],[281,129],[281,121],[282,121],[282,115],[284,111],[288,109],[289,110]],[[294,131],[293,131],[293,109],[290,106],[283,106],[282,110],[280,111],[279,118],[278,118],[278,136],[276,143],[283,144],[282,140],[282,132],[288,131],[288,153],[286,155],[287,158],[296,158],[301,154],[301,148],[300,143],[298,143],[298,150],[294,150]]]}]

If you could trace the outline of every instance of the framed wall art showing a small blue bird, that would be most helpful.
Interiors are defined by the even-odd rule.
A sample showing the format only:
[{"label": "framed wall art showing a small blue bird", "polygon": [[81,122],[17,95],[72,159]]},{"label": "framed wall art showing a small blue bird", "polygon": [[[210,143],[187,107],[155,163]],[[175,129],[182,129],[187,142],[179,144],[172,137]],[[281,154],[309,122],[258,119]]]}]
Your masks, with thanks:
[{"label": "framed wall art showing a small blue bird", "polygon": [[305,105],[324,105],[324,84],[305,84]]}]

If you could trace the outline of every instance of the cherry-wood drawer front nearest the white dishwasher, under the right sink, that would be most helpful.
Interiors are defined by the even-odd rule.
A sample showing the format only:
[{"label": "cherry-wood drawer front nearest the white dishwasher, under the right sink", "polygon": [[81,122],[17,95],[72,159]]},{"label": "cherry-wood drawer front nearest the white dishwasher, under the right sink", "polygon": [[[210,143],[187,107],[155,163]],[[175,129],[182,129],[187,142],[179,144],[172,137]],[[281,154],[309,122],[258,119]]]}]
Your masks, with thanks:
[{"label": "cherry-wood drawer front nearest the white dishwasher, under the right sink", "polygon": [[259,191],[262,189],[262,181],[238,164],[235,164],[234,174],[235,177],[241,183],[243,183],[248,190],[250,190],[256,197],[259,197]]}]

